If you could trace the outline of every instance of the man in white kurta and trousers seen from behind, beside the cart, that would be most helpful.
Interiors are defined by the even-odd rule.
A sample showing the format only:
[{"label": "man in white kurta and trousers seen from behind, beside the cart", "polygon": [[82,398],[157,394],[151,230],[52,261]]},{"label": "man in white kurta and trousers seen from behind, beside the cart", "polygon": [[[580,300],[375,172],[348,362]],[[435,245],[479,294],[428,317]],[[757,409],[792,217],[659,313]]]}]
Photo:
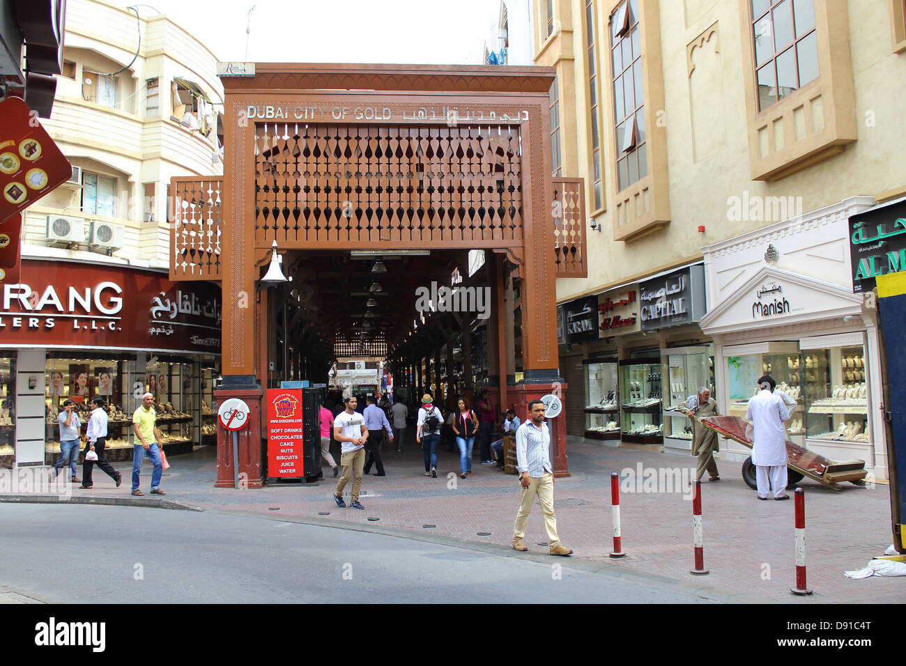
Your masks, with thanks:
[{"label": "man in white kurta and trousers seen from behind, beside the cart", "polygon": [[748,401],[746,420],[752,422],[752,464],[756,466],[758,499],[767,499],[774,488],[775,499],[786,495],[786,430],[784,421],[790,418],[785,401],[776,395],[770,377],[758,380],[761,391]]}]

